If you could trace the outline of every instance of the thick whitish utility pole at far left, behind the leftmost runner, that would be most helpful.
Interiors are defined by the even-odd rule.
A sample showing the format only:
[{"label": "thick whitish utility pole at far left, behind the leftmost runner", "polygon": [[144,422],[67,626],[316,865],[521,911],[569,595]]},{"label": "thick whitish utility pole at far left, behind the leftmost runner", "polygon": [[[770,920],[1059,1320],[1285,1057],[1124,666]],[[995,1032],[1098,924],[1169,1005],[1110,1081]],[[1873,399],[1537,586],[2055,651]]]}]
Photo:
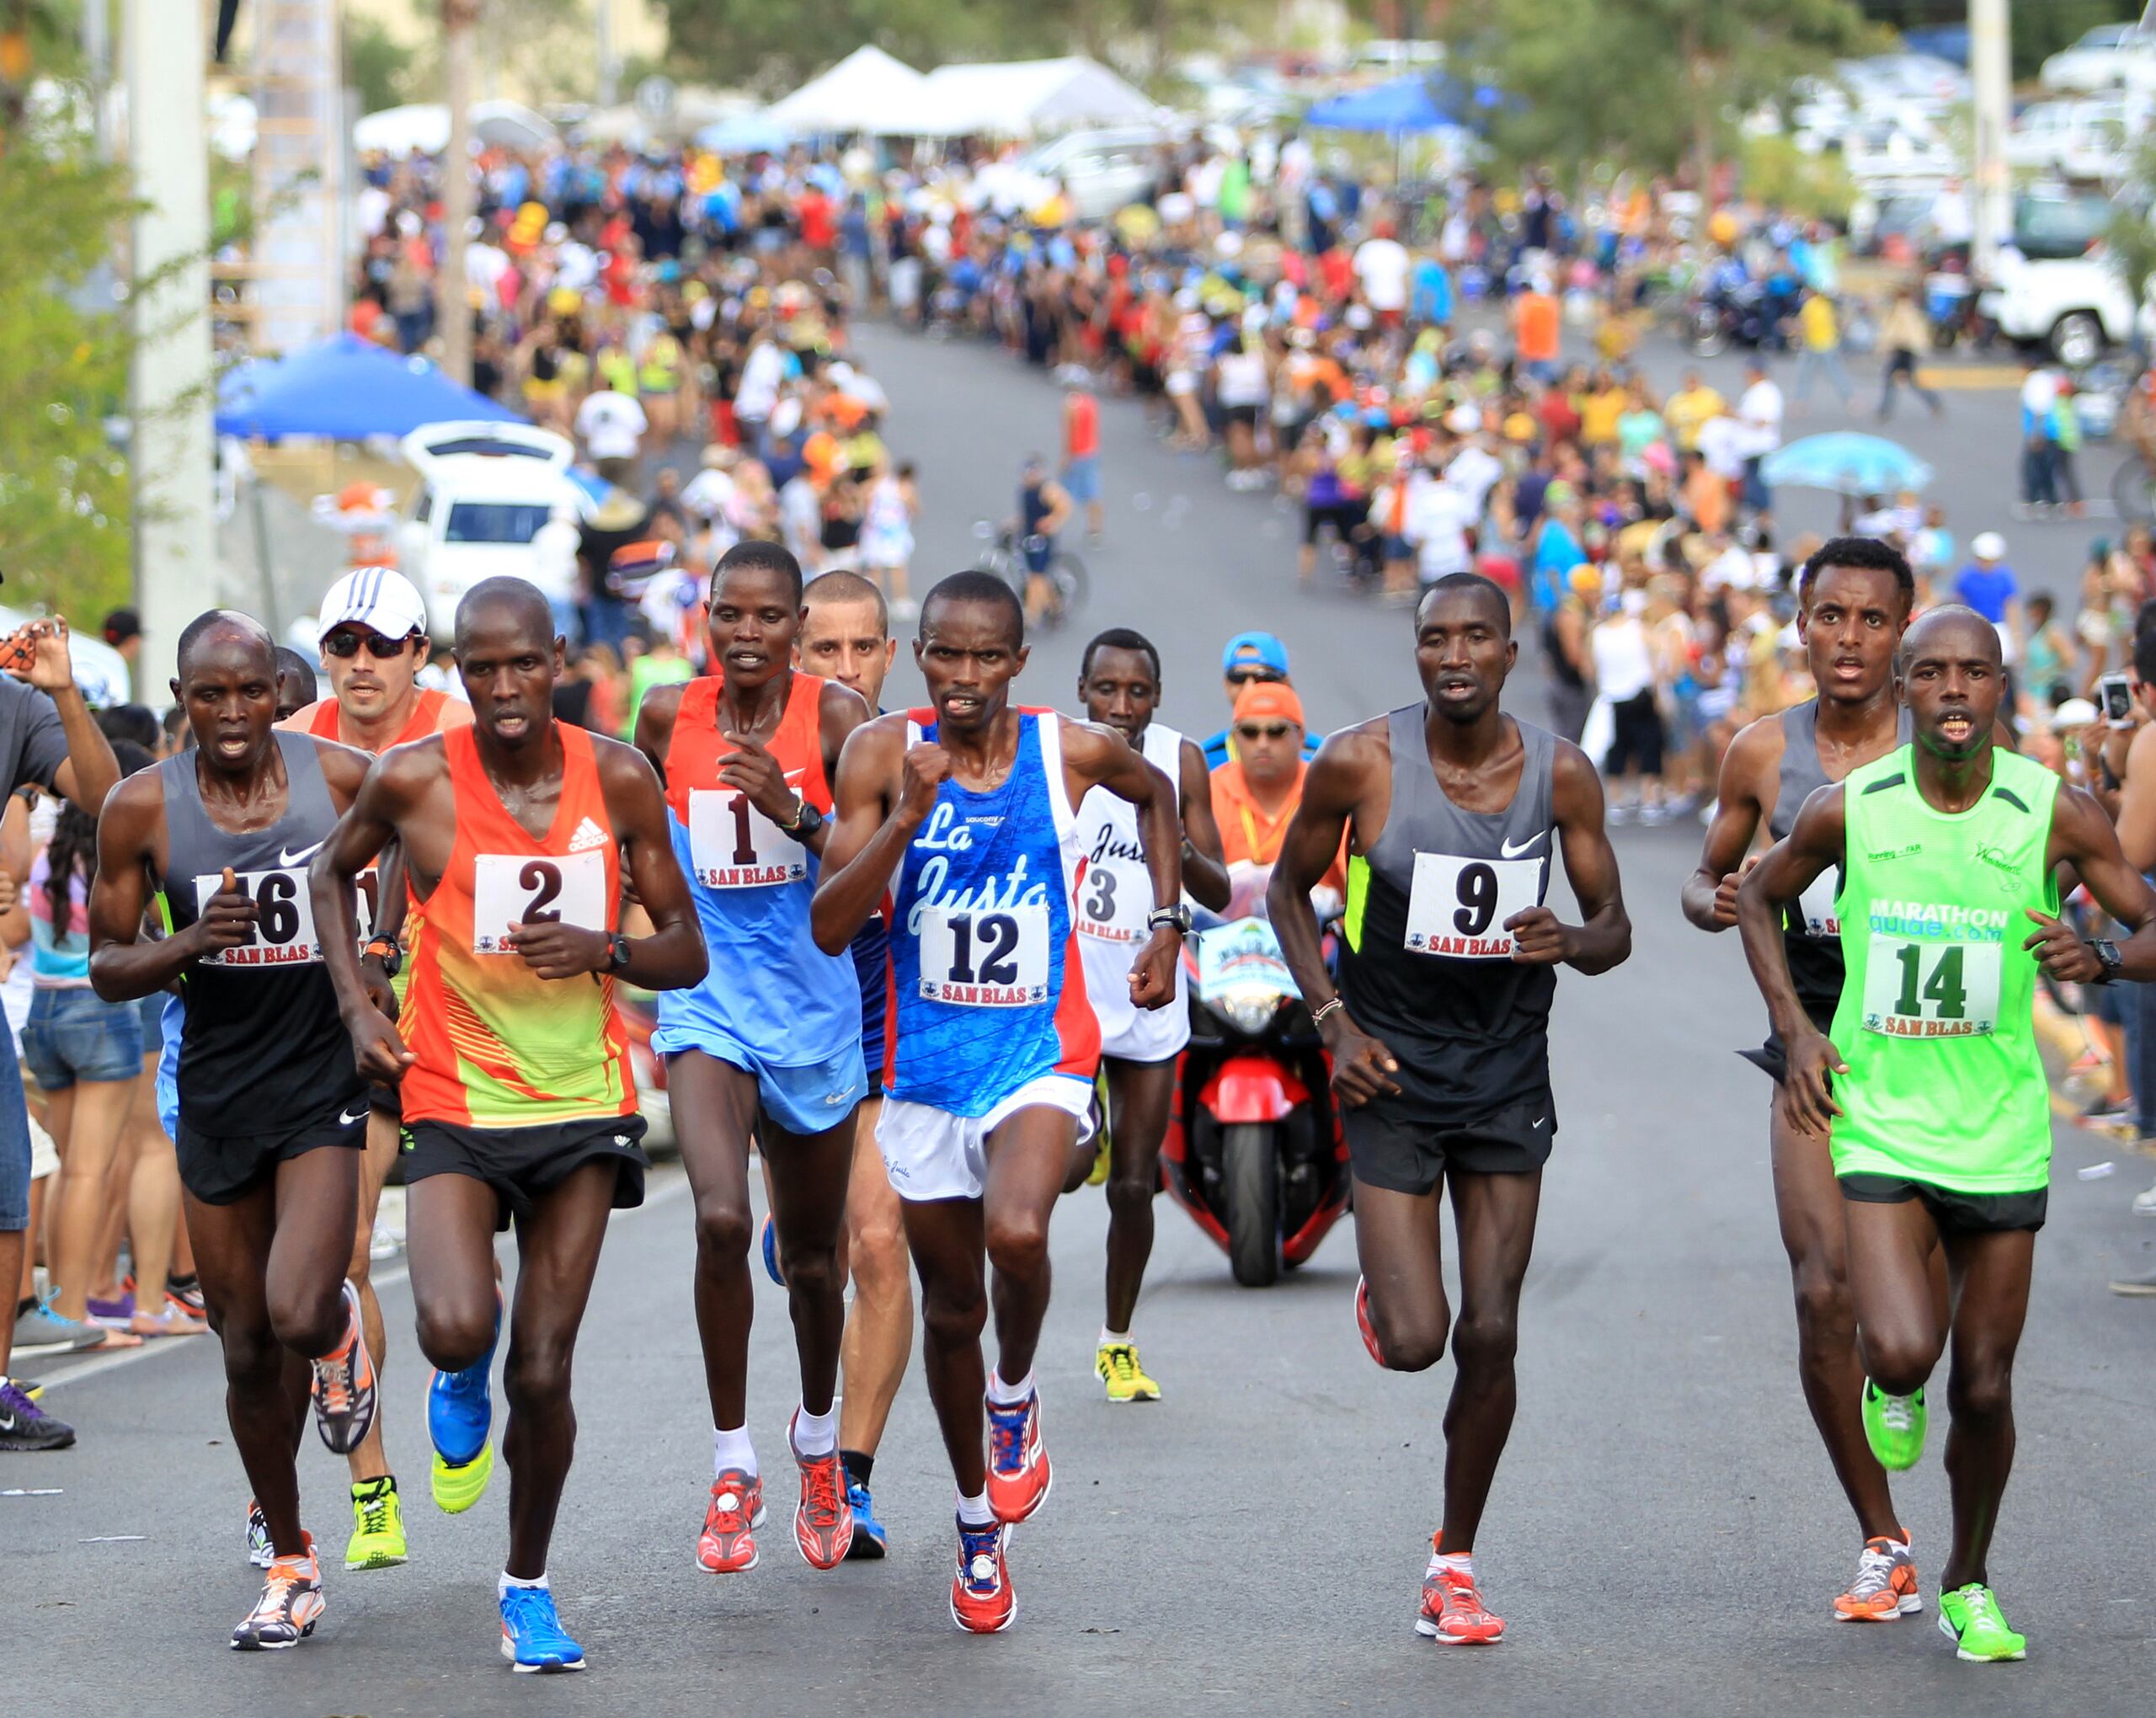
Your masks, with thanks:
[{"label": "thick whitish utility pole at far left, behind the leftmost runner", "polygon": [[127,0],[127,160],[134,220],[136,694],[160,698],[179,629],[224,593],[211,517],[209,149],[203,140],[203,9]]}]

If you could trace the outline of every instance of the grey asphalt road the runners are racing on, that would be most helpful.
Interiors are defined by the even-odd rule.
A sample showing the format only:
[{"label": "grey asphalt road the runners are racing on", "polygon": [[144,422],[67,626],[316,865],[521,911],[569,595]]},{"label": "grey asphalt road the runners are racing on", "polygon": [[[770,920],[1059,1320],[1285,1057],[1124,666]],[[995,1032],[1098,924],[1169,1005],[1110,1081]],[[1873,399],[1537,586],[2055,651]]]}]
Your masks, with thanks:
[{"label": "grey asphalt road the runners are racing on", "polygon": [[[1009,504],[1018,453],[1052,438],[1056,394],[1009,360],[871,334],[921,459],[921,571],[962,565],[970,519]],[[1973,414],[1971,414],[1973,416]],[[1406,621],[1294,586],[1289,519],[1212,468],[1153,448],[1110,405],[1108,543],[1076,634],[1039,642],[1022,692],[1065,703],[1091,625],[1134,623],[1166,660],[1166,718],[1216,724],[1220,640],[1270,625],[1315,724],[1414,696]],[[1949,418],[1947,433],[1964,433]],[[1973,425],[1966,433],[1975,433]],[[1943,463],[1945,468],[1945,463]],[[1141,507],[1141,496],[1145,504]],[[2048,530],[2048,528],[2046,528]],[[906,681],[895,685],[893,701]],[[1516,707],[1539,713],[1531,685]],[[785,1479],[763,1567],[701,1576],[692,1543],[709,1436],[677,1179],[614,1222],[578,1354],[582,1446],[554,1550],[582,1677],[513,1679],[496,1655],[505,1485],[470,1515],[427,1502],[410,1293],[390,1319],[388,1442],[414,1561],[330,1571],[328,1619],[291,1653],[224,1634],[257,1578],[246,1483],[207,1341],[47,1369],[82,1427],[15,1457],[0,1485],[0,1673],[22,1712],[472,1714],[834,1709],[1084,1714],[1429,1712],[1787,1714],[2147,1712],[2156,1574],[2156,1311],[2104,1278],[2147,1270],[2156,1224],[2126,1196],[2147,1164],[2061,1132],[2020,1364],[2020,1466],[1992,1563],[2027,1664],[1953,1660],[1934,1610],[1839,1627],[1828,1599],[1858,1539],[1796,1386],[1787,1272],[1766,1162],[1766,1080],[1731,1054],[1759,1005],[1731,938],[1682,923],[1697,826],[1621,830],[1634,957],[1559,985],[1552,1158],[1522,1308],[1520,1421],[1479,1546],[1511,1623],[1492,1651],[1412,1632],[1436,1520],[1449,1367],[1395,1377],[1354,1334],[1352,1235],[1268,1291],[1162,1203],[1138,1339],[1166,1401],[1110,1410],[1091,1380],[1106,1227],[1097,1190],[1056,1220],[1041,1349],[1059,1485],[1015,1541],[1020,1623],[959,1636],[944,1612],[951,1481],[918,1371],[877,1464],[895,1535],[882,1565],[815,1574],[785,1552]],[[2074,1170],[2115,1160],[2109,1179]],[[783,1298],[759,1280],[752,1429],[780,1470],[793,1403]],[[1938,1442],[1902,1485],[1927,1606],[1947,1535]],[[302,1461],[326,1546],[349,1526],[343,1464]]]}]

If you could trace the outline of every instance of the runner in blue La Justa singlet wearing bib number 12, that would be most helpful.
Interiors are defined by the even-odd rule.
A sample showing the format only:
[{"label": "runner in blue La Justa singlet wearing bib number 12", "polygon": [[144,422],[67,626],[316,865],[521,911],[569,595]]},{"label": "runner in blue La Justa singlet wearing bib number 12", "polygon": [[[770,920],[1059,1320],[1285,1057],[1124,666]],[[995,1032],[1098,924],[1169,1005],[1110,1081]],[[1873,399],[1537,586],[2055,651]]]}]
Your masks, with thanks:
[{"label": "runner in blue La Justa singlet wearing bib number 12", "polygon": [[[1110,787],[1141,806],[1151,936],[1125,983],[1141,1009],[1175,996],[1175,802],[1106,729],[1022,711],[1024,612],[992,573],[953,573],[921,608],[927,709],[880,716],[847,746],[837,832],[813,910],[845,948],[890,895],[893,1022],[877,1142],[921,1272],[929,1397],[957,1479],[953,1621],[1009,1627],[1005,1535],[1048,1496],[1033,1354],[1048,1311],[1048,1218],[1093,1097],[1100,1028],[1072,959],[1076,806]],[[983,1265],[996,1272],[994,1373],[983,1377]],[[994,1459],[983,1461],[981,1401]]]}]

